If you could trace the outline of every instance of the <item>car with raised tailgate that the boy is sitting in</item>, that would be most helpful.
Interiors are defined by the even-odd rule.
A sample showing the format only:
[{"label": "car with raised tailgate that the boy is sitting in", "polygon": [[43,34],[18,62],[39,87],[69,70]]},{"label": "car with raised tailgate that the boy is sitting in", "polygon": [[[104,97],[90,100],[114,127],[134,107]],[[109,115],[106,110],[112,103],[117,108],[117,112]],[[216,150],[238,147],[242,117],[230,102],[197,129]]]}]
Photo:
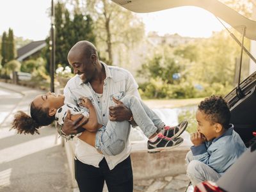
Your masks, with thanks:
[{"label": "car with raised tailgate that the boy is sitting in", "polygon": [[[179,6],[198,6],[224,20],[239,31],[242,36],[250,40],[256,40],[256,21],[250,20],[237,13],[232,8],[217,0],[112,0],[116,4],[137,13],[156,12]],[[241,27],[242,26],[242,27]],[[236,42],[243,47],[243,40]],[[255,58],[244,47],[241,52],[246,52],[256,64]],[[242,54],[241,54],[242,55]],[[242,58],[242,57],[241,57]],[[241,69],[241,66],[240,66]],[[241,70],[237,70],[237,76],[241,76]],[[225,96],[231,112],[230,123],[234,124],[235,131],[241,136],[246,147],[253,140],[253,132],[256,132],[256,72],[246,77],[243,82],[237,84],[234,89]],[[249,149],[243,156],[217,182],[225,191],[256,191],[254,180],[256,177],[256,150]],[[252,160],[253,161],[250,161]]]}]

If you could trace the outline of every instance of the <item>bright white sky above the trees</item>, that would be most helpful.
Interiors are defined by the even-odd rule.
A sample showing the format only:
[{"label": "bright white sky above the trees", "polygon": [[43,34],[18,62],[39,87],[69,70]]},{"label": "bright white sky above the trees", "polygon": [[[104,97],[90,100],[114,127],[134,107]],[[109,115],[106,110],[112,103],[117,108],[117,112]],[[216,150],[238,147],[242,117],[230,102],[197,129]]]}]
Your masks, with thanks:
[{"label": "bright white sky above the trees", "polygon": [[[12,28],[15,36],[45,39],[51,28],[50,7],[51,0],[1,0],[0,34]],[[214,15],[192,6],[136,14],[145,22],[147,33],[156,31],[159,35],[178,33],[181,36],[209,37],[212,31],[223,29]]]}]

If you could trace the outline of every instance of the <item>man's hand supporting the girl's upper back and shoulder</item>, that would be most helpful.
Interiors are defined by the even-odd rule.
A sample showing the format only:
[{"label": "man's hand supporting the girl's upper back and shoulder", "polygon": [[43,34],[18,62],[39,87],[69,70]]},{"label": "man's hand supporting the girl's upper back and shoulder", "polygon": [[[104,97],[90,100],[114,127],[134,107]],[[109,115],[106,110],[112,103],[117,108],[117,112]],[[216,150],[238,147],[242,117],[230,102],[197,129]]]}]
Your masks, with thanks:
[{"label": "man's hand supporting the girl's upper back and shoulder", "polygon": [[65,117],[64,124],[61,128],[61,131],[67,135],[76,134],[83,132],[84,129],[81,127],[88,122],[86,116],[80,115],[74,122],[71,120],[70,110],[67,111],[67,116]]}]

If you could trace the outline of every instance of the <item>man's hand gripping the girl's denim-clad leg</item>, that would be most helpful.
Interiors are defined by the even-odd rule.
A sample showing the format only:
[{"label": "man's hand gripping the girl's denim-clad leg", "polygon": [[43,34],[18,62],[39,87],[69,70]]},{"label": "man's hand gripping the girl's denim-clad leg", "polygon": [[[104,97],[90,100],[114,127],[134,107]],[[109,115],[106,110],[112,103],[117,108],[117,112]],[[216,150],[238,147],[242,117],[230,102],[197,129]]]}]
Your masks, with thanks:
[{"label": "man's hand gripping the girl's denim-clad leg", "polygon": [[122,122],[131,119],[132,111],[122,101],[116,100],[114,97],[113,101],[116,103],[116,106],[109,107],[109,120]]}]

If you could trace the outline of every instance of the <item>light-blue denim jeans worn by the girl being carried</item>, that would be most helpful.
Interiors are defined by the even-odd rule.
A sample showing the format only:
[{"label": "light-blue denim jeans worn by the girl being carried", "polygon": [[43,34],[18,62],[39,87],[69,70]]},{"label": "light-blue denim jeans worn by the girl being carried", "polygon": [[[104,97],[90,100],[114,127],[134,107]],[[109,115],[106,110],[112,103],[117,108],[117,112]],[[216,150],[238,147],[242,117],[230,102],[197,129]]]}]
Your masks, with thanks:
[{"label": "light-blue denim jeans worn by the girl being carried", "polygon": [[[125,96],[121,101],[127,108],[131,109],[134,121],[147,138],[164,127],[164,123],[156,113],[148,108],[148,106],[137,97]],[[125,143],[127,143],[129,138],[130,129],[131,125],[128,121],[108,121],[106,127],[100,128],[97,132],[95,147],[103,154],[109,156],[120,154],[125,148]]]}]

